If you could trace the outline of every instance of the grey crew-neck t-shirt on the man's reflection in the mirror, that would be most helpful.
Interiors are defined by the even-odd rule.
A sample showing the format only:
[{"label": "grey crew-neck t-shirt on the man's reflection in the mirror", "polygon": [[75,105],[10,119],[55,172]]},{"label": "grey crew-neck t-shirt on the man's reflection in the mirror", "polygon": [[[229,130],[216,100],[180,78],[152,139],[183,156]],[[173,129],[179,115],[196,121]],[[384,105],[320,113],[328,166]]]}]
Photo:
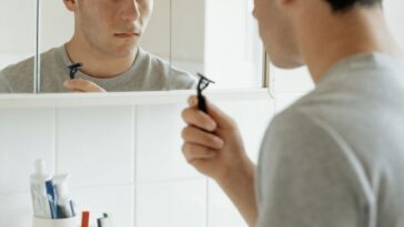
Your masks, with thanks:
[{"label": "grey crew-neck t-shirt on the man's reflection in the mirror", "polygon": [[[72,64],[64,45],[41,54],[41,93],[70,92],[63,86]],[[85,64],[85,62],[84,62]],[[0,72],[0,93],[32,93],[33,58],[10,65]],[[82,72],[77,79],[92,81],[108,92],[186,90],[195,86],[193,75],[172,68],[168,62],[139,48],[133,65],[111,79],[97,79]]]}]

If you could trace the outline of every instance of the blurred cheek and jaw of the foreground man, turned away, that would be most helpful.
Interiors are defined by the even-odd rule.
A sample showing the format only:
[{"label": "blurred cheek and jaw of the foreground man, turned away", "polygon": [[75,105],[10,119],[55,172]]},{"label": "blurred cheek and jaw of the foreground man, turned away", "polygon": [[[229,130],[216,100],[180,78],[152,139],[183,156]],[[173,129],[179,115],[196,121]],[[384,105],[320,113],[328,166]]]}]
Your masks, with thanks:
[{"label": "blurred cheek and jaw of the foreground man, turned away", "polygon": [[273,64],[284,69],[301,66],[291,21],[276,1],[254,0],[253,16],[259,22],[261,39]]}]

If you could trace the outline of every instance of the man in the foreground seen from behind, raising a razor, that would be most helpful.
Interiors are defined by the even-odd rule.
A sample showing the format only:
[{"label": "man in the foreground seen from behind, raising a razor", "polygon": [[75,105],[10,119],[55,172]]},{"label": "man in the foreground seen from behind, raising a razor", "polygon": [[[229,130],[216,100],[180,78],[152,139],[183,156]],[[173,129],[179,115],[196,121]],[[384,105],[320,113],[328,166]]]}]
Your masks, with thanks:
[{"label": "man in the foreground seen from behind, raising a razor", "polygon": [[256,171],[234,122],[189,100],[184,156],[250,226],[404,226],[404,59],[381,4],[255,0],[272,62],[306,64],[316,84],[274,117]]}]

